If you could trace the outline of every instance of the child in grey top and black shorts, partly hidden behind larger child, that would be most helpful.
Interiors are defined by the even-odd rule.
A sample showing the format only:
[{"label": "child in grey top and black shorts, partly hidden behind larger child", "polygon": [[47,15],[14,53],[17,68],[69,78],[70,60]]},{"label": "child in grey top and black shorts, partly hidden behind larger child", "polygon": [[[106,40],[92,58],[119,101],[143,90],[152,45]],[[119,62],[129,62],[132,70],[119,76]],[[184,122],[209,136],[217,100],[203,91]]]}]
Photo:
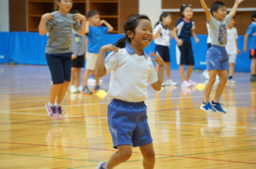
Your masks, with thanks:
[{"label": "child in grey top and black shorts, partly hidden behind larger child", "polygon": [[[71,11],[70,14],[80,14],[78,10]],[[81,68],[84,67],[85,58],[85,39],[86,36],[80,36],[76,31],[72,30],[72,69],[71,69],[71,93],[80,93],[83,87],[80,85],[81,82]],[[75,85],[75,77],[77,84]]]}]

